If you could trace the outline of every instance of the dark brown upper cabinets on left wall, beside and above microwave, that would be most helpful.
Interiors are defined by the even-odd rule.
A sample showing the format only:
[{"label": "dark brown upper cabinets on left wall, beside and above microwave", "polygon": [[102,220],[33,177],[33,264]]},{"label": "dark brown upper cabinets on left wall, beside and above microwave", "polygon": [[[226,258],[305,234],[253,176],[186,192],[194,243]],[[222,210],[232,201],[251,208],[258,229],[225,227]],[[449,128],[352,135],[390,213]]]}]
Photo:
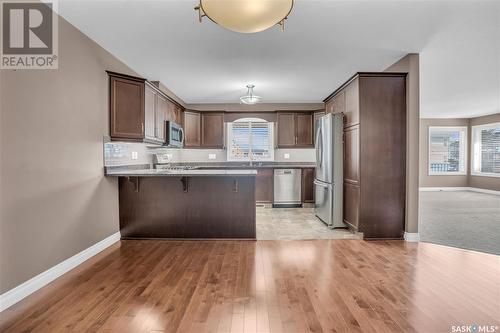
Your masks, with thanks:
[{"label": "dark brown upper cabinets on left wall, beside and above microwave", "polygon": [[108,72],[113,140],[165,141],[165,120],[180,120],[181,106],[145,79]]}]

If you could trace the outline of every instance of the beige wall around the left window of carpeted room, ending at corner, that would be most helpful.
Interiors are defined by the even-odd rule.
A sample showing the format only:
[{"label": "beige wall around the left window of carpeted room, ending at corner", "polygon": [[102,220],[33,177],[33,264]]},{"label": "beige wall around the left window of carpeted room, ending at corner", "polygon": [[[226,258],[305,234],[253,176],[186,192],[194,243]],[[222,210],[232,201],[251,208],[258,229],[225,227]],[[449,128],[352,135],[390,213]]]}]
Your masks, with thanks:
[{"label": "beige wall around the left window of carpeted room, ending at corner", "polygon": [[[429,127],[469,126],[469,119],[420,119],[420,187],[467,187],[467,175],[429,175]],[[470,137],[468,131],[468,137]],[[468,154],[469,155],[469,154]]]}]

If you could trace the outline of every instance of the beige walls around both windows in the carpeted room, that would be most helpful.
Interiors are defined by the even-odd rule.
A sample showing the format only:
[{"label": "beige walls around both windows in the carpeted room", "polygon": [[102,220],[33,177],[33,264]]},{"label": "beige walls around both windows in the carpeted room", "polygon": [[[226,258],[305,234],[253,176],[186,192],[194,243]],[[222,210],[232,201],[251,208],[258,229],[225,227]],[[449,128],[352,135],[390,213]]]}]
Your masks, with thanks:
[{"label": "beige walls around both windows in the carpeted room", "polygon": [[[420,119],[420,187],[476,187],[500,191],[499,177],[471,175],[472,126],[500,122],[500,113],[477,118]],[[429,176],[429,127],[467,126],[467,174],[457,176]]]}]

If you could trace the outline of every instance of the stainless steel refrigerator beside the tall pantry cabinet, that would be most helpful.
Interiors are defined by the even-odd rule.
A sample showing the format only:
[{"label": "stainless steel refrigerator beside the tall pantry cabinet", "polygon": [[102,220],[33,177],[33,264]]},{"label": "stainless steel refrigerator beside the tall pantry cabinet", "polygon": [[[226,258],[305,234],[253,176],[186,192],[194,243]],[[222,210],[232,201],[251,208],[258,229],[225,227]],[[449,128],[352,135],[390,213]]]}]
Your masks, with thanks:
[{"label": "stainless steel refrigerator beside the tall pantry cabinet", "polygon": [[344,121],[342,114],[327,114],[315,123],[316,216],[331,228],[345,228],[343,221]]}]

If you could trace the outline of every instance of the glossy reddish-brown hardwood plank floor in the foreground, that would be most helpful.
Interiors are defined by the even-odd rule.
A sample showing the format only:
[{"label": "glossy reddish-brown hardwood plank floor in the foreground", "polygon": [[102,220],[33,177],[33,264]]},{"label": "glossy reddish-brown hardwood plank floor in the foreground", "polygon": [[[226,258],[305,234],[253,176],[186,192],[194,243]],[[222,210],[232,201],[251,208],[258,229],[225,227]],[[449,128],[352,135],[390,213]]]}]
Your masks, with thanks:
[{"label": "glossy reddish-brown hardwood plank floor in the foreground", "polygon": [[498,326],[499,258],[402,241],[122,241],[1,313],[0,331]]}]

